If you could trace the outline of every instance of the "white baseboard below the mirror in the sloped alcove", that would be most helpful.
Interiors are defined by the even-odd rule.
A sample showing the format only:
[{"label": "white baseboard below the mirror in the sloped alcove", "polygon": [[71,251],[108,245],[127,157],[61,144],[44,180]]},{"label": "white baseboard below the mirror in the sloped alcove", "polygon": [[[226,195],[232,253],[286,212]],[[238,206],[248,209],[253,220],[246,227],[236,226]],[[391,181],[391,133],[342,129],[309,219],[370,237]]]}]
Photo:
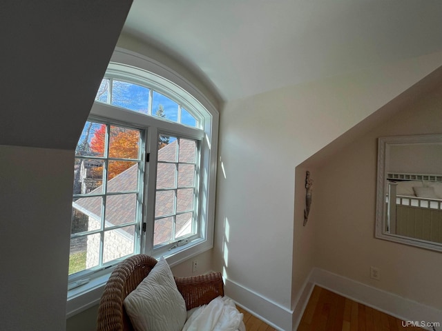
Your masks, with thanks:
[{"label": "white baseboard below the mirror in the sloped alcove", "polygon": [[[319,268],[314,268],[311,271],[308,283],[319,285],[343,297],[363,303],[404,321],[439,322],[440,326],[436,327],[435,330],[442,330],[442,311],[422,303],[399,297],[396,294],[373,288]],[[433,330],[432,328],[422,328]]]}]

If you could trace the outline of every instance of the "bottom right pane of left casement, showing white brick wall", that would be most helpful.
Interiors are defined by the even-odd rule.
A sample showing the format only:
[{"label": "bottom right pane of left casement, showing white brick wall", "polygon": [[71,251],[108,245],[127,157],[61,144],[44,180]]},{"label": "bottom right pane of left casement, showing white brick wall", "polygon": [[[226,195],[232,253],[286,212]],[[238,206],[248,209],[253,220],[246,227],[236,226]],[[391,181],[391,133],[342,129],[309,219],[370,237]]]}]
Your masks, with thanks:
[{"label": "bottom right pane of left casement, showing white brick wall", "polygon": [[134,252],[135,225],[104,232],[103,263]]}]

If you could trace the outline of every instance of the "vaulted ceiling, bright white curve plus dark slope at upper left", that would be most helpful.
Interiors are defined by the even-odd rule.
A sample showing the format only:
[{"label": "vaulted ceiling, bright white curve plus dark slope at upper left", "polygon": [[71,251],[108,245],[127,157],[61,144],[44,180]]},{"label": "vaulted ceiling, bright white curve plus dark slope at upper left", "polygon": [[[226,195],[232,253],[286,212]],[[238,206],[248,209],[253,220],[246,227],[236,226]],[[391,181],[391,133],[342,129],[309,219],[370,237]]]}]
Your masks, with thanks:
[{"label": "vaulted ceiling, bright white curve plus dark slope at upper left", "polygon": [[[38,3],[0,5],[0,143],[73,148],[131,0]],[[123,32],[231,101],[440,52],[441,17],[441,0],[135,0]]]}]

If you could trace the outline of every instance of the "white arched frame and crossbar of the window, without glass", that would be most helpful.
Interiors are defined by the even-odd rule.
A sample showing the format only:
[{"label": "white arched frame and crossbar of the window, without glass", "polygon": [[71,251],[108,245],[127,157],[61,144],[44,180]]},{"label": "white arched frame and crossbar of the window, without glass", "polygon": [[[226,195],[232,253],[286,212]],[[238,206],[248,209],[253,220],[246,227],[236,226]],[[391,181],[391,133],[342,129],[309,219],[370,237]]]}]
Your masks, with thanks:
[{"label": "white arched frame and crossbar of the window, without glass", "polygon": [[[215,218],[215,182],[218,148],[218,110],[192,83],[184,79],[170,68],[161,63],[148,59],[140,54],[116,48],[106,72],[106,77],[124,79],[131,83],[139,83],[142,86],[164,94],[166,97],[177,101],[196,117],[200,128],[191,128],[178,123],[164,121],[156,117],[146,116],[96,101],[90,111],[90,119],[105,119],[115,123],[134,128],[147,128],[147,141],[157,141],[159,133],[175,135],[180,138],[195,139],[200,141],[200,188],[198,199],[199,232],[188,244],[173,247],[163,246],[159,250],[153,250],[153,229],[147,230],[142,236],[141,250],[143,254],[149,254],[155,258],[164,256],[169,265],[177,265],[202,252],[213,248],[213,227]],[[150,154],[150,164],[155,166],[146,167],[144,174],[144,194],[155,197],[157,143],[147,144],[155,146],[146,150]],[[153,194],[153,195],[152,195]],[[146,200],[146,199],[145,199]],[[155,199],[147,198],[144,206],[147,219],[153,219]],[[153,226],[153,223],[148,226]],[[95,272],[90,276],[88,283],[68,291],[66,317],[90,308],[99,303],[104,285],[113,268],[106,268],[101,272]],[[79,273],[81,274],[81,273]],[[79,281],[79,277],[71,277],[70,281]]]}]

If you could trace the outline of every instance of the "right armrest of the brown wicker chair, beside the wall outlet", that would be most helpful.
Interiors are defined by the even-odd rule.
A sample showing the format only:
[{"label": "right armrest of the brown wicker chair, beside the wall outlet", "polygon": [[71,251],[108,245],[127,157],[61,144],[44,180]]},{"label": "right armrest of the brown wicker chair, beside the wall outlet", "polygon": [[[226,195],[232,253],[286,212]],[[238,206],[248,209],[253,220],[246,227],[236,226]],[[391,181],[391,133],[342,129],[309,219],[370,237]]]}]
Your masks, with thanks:
[{"label": "right armrest of the brown wicker chair, beside the wall outlet", "polygon": [[186,302],[187,310],[206,305],[216,297],[224,296],[224,283],[220,272],[174,278],[177,288]]}]

